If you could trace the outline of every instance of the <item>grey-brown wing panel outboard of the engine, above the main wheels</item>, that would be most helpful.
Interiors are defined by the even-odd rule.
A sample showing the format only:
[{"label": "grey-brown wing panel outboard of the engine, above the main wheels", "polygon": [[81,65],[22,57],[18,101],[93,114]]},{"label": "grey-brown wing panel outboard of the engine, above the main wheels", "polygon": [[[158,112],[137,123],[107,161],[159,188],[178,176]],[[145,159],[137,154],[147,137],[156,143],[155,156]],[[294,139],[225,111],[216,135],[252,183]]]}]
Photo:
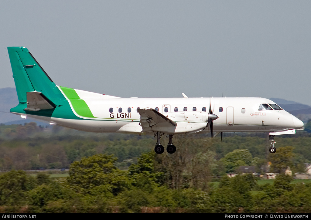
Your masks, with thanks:
[{"label": "grey-brown wing panel outboard of the engine, above the main wheels", "polygon": [[160,112],[150,108],[150,109],[138,109],[138,113],[140,114],[140,125],[142,126],[142,132],[144,130],[149,130],[148,128],[152,126],[156,127],[173,127],[176,126],[177,123]]}]

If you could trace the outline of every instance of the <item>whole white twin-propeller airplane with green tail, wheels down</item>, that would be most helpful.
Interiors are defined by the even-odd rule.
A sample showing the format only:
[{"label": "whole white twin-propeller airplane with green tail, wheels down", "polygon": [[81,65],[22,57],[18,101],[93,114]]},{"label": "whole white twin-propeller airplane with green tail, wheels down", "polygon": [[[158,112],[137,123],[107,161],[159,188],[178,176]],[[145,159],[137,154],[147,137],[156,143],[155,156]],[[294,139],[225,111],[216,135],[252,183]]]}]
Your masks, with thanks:
[{"label": "whole white twin-propeller airplane with green tail, wheels down", "polygon": [[[50,124],[89,132],[147,134],[157,138],[155,152],[164,152],[160,138],[175,134],[269,132],[295,134],[304,123],[264,98],[120,98],[57,86],[25,47],[8,47],[19,104],[10,112]],[[215,135],[215,136],[216,136]]]}]

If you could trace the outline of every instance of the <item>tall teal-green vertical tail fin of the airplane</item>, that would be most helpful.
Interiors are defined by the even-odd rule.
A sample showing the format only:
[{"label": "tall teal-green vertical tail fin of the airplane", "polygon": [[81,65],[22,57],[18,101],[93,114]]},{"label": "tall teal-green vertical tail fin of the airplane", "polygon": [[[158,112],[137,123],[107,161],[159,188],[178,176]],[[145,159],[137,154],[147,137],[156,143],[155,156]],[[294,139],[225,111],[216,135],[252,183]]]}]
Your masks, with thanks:
[{"label": "tall teal-green vertical tail fin of the airplane", "polygon": [[49,100],[64,99],[55,83],[25,47],[8,47],[18,101],[27,102],[27,92],[41,92]]}]

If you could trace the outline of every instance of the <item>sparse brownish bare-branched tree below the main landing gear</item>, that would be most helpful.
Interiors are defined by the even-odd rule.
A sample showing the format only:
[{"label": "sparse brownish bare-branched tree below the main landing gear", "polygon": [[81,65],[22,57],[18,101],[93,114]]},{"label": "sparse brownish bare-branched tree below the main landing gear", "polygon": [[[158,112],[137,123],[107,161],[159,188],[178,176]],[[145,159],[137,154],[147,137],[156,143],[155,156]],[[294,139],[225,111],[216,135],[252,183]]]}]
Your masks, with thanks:
[{"label": "sparse brownish bare-branched tree below the main landing gear", "polygon": [[208,190],[212,170],[216,167],[215,153],[210,150],[211,139],[198,139],[197,135],[174,137],[178,150],[174,154],[157,154],[155,167],[165,176],[171,189],[194,187]]}]

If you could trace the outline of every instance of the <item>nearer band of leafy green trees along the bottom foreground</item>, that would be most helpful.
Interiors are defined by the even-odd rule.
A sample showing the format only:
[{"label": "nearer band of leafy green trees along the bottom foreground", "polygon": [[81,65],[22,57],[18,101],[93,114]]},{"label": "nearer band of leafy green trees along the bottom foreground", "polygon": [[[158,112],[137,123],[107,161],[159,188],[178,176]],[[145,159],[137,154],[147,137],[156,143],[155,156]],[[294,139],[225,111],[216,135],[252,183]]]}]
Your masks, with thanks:
[{"label": "nearer band of leafy green trees along the bottom foreground", "polygon": [[[67,178],[9,171],[0,175],[2,213],[310,213],[311,183],[279,174],[258,185],[252,174],[209,182],[208,159],[142,154],[128,170],[112,155],[95,154],[70,165]],[[198,159],[201,158],[201,159]],[[165,162],[166,161],[166,162]],[[179,161],[179,162],[178,162]],[[165,166],[163,166],[163,164]],[[176,167],[175,167],[176,168]],[[203,170],[204,169],[204,170]],[[200,170],[202,172],[200,172]],[[179,176],[179,178],[177,178]],[[196,179],[196,181],[194,181]]]}]

